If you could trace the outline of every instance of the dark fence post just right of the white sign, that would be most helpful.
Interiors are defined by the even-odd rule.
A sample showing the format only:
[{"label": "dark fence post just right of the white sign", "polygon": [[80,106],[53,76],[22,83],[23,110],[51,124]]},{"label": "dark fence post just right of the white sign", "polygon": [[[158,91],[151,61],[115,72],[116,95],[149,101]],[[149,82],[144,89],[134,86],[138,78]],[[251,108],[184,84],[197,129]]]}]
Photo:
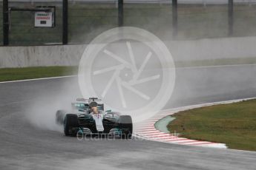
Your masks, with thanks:
[{"label": "dark fence post just right of the white sign", "polygon": [[62,44],[68,44],[68,0],[62,0]]}]

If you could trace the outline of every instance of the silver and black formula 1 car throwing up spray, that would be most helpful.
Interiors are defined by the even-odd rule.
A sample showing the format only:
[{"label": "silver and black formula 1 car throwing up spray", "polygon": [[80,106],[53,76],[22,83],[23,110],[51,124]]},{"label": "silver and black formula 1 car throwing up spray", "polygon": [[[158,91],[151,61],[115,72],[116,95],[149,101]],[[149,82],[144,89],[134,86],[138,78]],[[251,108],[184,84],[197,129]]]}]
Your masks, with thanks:
[{"label": "silver and black formula 1 car throwing up spray", "polygon": [[121,115],[111,110],[104,111],[104,104],[98,98],[78,98],[72,103],[73,113],[58,110],[56,123],[64,126],[66,136],[76,135],[118,135],[131,138],[133,123],[130,115]]}]

